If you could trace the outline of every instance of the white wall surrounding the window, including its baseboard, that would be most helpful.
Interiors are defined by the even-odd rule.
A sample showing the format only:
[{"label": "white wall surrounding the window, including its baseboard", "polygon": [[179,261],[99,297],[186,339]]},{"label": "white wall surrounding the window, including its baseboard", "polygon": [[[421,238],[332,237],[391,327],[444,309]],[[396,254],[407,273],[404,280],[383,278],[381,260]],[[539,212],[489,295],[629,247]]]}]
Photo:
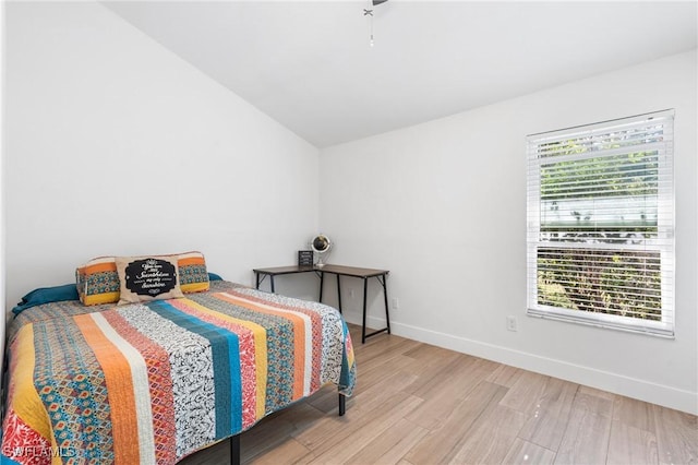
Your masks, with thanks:
[{"label": "white wall surrounding the window, including its baseboard", "polygon": [[[691,51],[326,148],[320,225],[332,261],[390,270],[395,334],[696,414],[696,79]],[[666,108],[676,109],[676,338],[526,317],[526,135]],[[359,322],[351,286],[342,303]]]}]

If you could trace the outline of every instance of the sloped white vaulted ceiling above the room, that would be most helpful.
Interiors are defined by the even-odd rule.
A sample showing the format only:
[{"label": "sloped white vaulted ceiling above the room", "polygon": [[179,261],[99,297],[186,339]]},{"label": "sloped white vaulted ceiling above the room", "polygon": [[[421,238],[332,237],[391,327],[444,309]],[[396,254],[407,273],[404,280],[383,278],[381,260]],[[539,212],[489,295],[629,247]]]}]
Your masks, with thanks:
[{"label": "sloped white vaulted ceiling above the room", "polygon": [[697,47],[695,1],[115,1],[317,147]]}]

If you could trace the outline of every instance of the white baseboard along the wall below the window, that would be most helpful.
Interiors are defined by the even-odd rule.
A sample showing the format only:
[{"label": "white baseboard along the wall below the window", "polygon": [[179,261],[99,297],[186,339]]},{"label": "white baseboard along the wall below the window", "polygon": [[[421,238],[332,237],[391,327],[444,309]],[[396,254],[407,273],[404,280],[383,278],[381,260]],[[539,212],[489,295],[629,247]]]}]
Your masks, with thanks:
[{"label": "white baseboard along the wall below the window", "polygon": [[[351,317],[345,315],[347,321],[361,324],[361,321],[353,321]],[[360,318],[360,315],[359,315]],[[370,327],[384,327],[385,320],[369,318]],[[667,385],[657,384],[645,380],[624,377],[609,371],[598,370],[590,367],[569,363],[564,360],[541,357],[507,347],[496,346],[480,341],[457,337],[450,334],[424,330],[397,322],[390,322],[392,333],[413,341],[431,344],[434,346],[456,350],[474,357],[485,358],[500,363],[534,371],[549,377],[559,378],[577,384],[600,389],[626,397],[658,404],[676,410],[698,415],[698,393],[675,389]],[[380,337],[380,336],[375,336]],[[360,342],[354,342],[354,344]]]}]

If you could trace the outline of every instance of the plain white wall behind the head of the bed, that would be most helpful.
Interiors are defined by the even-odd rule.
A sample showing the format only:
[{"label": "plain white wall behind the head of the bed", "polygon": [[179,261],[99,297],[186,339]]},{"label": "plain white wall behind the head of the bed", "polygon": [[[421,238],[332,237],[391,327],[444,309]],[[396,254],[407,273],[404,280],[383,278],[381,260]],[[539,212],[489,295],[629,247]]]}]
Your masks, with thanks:
[{"label": "plain white wall behind the head of the bed", "polygon": [[317,148],[98,3],[7,23],[8,310],[105,254],[201,250],[252,284],[317,230]]}]

